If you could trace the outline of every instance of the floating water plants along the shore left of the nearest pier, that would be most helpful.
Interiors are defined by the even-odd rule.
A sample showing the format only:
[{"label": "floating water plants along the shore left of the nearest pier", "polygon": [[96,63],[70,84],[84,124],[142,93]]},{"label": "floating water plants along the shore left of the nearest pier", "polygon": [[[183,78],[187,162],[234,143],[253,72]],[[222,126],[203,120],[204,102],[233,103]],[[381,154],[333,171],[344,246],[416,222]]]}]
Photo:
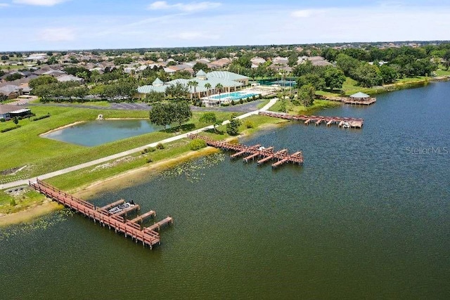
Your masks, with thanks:
[{"label": "floating water plants along the shore left of the nearest pier", "polygon": [[37,230],[46,230],[51,226],[55,226],[57,223],[68,220],[70,216],[73,216],[73,214],[75,213],[70,209],[62,209],[60,211],[55,211],[53,214],[43,216],[42,218],[27,223],[1,228],[0,242],[3,240],[8,240],[15,235],[25,235],[34,233]]}]

